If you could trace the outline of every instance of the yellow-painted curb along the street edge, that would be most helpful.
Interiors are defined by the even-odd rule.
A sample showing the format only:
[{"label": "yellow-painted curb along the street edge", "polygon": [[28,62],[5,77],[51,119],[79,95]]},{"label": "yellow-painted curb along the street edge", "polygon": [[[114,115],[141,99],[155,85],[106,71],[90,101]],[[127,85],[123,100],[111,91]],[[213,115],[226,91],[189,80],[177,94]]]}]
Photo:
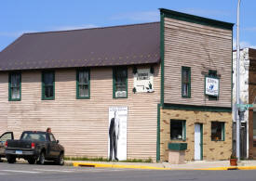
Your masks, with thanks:
[{"label": "yellow-painted curb along the street edge", "polygon": [[98,168],[128,168],[128,169],[146,169],[146,170],[201,170],[201,171],[229,171],[229,170],[256,170],[256,166],[227,166],[213,168],[161,168],[154,166],[127,165],[127,164],[105,164],[94,162],[73,162],[74,167],[98,167]]}]

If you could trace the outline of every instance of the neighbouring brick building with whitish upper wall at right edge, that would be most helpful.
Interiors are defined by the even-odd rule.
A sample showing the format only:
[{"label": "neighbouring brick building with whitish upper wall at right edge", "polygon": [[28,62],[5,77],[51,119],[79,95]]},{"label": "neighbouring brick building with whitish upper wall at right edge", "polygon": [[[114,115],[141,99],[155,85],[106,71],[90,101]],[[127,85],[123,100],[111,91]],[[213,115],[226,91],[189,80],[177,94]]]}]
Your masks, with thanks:
[{"label": "neighbouring brick building with whitish upper wall at right edge", "polygon": [[[244,109],[241,114],[240,125],[240,155],[242,158],[256,158],[256,107],[255,107],[255,64],[256,50],[244,48],[240,50],[240,103],[253,105]],[[233,104],[236,104],[236,51],[233,52]],[[234,149],[236,149],[236,119],[234,112]]]}]

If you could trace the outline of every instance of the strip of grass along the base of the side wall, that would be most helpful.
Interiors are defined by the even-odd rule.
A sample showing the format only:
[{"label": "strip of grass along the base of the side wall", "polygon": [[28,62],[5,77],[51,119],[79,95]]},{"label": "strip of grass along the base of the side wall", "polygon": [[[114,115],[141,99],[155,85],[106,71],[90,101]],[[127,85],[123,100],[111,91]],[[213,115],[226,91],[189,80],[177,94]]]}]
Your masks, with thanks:
[{"label": "strip of grass along the base of the side wall", "polygon": [[[88,157],[64,157],[65,161],[93,161],[93,162],[110,162],[108,159],[97,157],[97,158],[88,158]],[[149,159],[128,159],[127,161],[120,162],[153,162],[151,158]]]}]

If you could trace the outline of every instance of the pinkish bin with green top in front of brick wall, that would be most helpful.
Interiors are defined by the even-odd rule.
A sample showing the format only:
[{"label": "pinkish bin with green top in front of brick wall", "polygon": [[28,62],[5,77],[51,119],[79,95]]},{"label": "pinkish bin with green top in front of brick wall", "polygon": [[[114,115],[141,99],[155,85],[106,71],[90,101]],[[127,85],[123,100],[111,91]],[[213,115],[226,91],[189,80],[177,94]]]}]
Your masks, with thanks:
[{"label": "pinkish bin with green top in front of brick wall", "polygon": [[168,162],[171,164],[184,163],[185,149],[187,149],[187,143],[168,143]]}]

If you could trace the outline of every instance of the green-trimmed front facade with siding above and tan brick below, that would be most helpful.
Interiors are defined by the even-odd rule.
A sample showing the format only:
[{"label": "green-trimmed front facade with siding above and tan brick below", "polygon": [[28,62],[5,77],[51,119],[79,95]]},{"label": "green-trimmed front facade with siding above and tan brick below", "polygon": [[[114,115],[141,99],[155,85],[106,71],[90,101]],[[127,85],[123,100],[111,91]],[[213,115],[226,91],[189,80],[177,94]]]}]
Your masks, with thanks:
[{"label": "green-trimmed front facade with siding above and tan brick below", "polygon": [[231,23],[161,9],[161,161],[177,143],[186,160],[229,159],[232,31]]}]

